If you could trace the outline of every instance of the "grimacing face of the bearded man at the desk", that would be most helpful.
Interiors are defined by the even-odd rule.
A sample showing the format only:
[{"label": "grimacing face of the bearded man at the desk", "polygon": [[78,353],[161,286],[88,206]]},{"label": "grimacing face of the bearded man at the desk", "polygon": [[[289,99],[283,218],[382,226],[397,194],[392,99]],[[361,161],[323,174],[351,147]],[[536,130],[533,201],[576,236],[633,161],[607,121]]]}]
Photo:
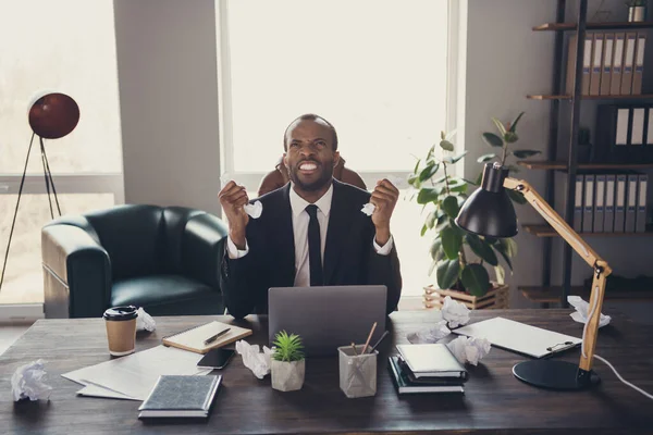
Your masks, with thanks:
[{"label": "grimacing face of the bearded man at the desk", "polygon": [[340,154],[333,151],[333,134],[324,124],[301,121],[286,136],[284,164],[296,187],[316,191],[329,185]]}]

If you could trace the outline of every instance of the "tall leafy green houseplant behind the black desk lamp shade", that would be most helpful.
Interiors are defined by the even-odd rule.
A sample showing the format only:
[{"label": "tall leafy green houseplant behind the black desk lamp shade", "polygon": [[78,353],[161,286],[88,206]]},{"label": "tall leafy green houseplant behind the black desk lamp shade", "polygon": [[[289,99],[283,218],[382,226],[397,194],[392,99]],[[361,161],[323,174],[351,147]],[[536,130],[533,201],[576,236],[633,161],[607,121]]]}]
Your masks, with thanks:
[{"label": "tall leafy green houseplant behind the black desk lamp shade", "polygon": [[[430,253],[429,275],[436,271],[441,289],[466,291],[481,297],[492,288],[485,264],[494,268],[496,282],[503,284],[505,270],[498,263],[503,258],[513,269],[512,258],[517,245],[512,239],[490,239],[466,233],[454,222],[467,199],[469,184],[451,174],[451,165],[461,160],[467,151],[453,156],[454,145],[444,132],[439,144],[433,145],[426,158],[418,160],[408,183],[417,190],[417,202],[429,209],[421,235],[434,233]],[[441,153],[441,158],[436,158]]]}]

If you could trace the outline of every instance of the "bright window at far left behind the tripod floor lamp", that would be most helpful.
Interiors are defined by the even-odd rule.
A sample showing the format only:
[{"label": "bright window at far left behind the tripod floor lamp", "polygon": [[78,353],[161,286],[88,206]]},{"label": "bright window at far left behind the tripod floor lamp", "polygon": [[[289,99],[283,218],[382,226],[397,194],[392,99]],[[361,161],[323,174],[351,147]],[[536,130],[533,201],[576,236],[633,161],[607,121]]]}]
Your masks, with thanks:
[{"label": "bright window at far left behind the tripod floor lamp", "polygon": [[[45,140],[62,214],[123,201],[113,2],[0,0],[0,254],[32,136],[27,110],[41,90],[79,105],[69,136]],[[40,227],[50,220],[38,142],[32,149],[0,303],[42,302]],[[0,263],[1,268],[1,263]]]}]

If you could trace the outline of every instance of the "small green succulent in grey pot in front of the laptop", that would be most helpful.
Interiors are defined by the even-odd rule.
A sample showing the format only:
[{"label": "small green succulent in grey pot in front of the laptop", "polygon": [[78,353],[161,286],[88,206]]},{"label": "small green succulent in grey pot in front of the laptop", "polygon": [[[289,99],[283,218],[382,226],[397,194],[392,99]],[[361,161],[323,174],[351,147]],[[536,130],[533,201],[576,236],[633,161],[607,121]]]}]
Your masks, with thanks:
[{"label": "small green succulent in grey pot in front of the laptop", "polygon": [[274,336],[274,353],[272,353],[272,388],[280,391],[301,389],[306,373],[304,345],[297,334],[285,331]]}]

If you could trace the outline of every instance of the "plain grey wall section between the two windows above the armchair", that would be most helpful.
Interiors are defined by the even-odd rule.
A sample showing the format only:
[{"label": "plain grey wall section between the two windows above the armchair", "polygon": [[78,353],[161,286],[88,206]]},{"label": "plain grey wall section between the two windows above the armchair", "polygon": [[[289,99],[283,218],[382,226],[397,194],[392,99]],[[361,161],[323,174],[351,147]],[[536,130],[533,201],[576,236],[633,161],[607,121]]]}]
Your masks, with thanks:
[{"label": "plain grey wall section between the two windows above the armchair", "polygon": [[220,213],[213,0],[114,0],[125,202]]}]

